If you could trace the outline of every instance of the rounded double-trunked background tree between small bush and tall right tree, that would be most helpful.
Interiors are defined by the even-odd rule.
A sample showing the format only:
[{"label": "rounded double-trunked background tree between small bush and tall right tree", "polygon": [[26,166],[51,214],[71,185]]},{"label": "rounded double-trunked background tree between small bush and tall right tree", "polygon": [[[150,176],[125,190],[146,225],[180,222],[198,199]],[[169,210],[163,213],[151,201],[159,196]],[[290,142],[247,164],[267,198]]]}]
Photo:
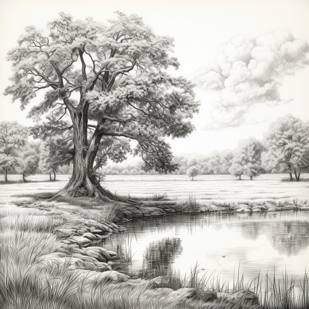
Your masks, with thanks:
[{"label": "rounded double-trunked background tree between small bush and tall right tree", "polygon": [[261,172],[261,153],[263,144],[256,138],[242,139],[238,147],[233,152],[232,165],[229,172],[235,176],[246,175],[252,180],[253,177],[260,175]]}]

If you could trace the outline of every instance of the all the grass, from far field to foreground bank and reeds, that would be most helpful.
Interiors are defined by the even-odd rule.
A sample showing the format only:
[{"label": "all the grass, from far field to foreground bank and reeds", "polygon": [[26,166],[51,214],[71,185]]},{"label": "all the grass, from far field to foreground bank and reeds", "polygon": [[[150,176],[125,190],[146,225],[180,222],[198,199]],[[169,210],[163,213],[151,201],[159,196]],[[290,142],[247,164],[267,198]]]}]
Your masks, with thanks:
[{"label": "all the grass, from far field to foreground bank and reeds", "polygon": [[[2,177],[2,178],[1,178]],[[161,176],[106,176],[102,185],[121,197],[151,200],[153,203],[176,201],[176,206],[188,206],[188,201],[202,205],[247,205],[260,202],[308,205],[308,175],[304,181],[282,181],[286,175],[261,175],[250,181],[237,180],[229,175],[197,176],[190,181],[184,175]],[[3,179],[3,175],[0,175]],[[23,183],[20,175],[9,175],[9,183],[0,183],[0,308],[1,309],[219,309],[258,308],[256,304],[244,306],[225,298],[205,302],[192,300],[192,289],[235,293],[248,289],[259,296],[259,308],[309,308],[308,278],[302,280],[303,293],[294,295],[292,282],[283,278],[271,281],[269,289],[261,289],[261,278],[249,286],[235,282],[235,288],[207,283],[206,278],[197,281],[197,269],[183,280],[180,274],[169,278],[147,280],[107,280],[93,277],[95,271],[70,269],[70,261],[53,264],[48,257],[70,256],[76,245],[68,243],[64,229],[81,228],[83,220],[110,222],[114,218],[115,205],[99,205],[95,210],[81,204],[49,203],[45,208],[18,207],[31,203],[38,193],[55,192],[62,188],[68,175],[57,175],[57,181],[49,181],[49,175],[27,177]],[[193,198],[194,197],[194,198]],[[195,205],[196,206],[196,205]],[[266,281],[268,278],[266,278]],[[168,281],[168,283],[166,283]],[[206,284],[206,283],[207,284]],[[252,281],[253,282],[253,281]],[[241,283],[241,280],[240,280]],[[182,291],[155,289],[191,288]],[[260,288],[259,288],[260,286]],[[191,295],[191,296],[190,296]]]}]

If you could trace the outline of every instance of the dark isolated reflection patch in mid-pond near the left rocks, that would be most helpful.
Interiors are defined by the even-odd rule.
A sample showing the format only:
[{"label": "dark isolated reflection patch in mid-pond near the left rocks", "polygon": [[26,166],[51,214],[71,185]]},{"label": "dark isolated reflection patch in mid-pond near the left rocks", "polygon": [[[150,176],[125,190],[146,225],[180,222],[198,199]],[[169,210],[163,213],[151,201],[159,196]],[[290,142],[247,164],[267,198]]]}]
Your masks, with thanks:
[{"label": "dark isolated reflection patch in mid-pond near the left rocks", "polygon": [[143,255],[143,271],[155,276],[167,274],[182,250],[181,239],[178,237],[152,241]]}]

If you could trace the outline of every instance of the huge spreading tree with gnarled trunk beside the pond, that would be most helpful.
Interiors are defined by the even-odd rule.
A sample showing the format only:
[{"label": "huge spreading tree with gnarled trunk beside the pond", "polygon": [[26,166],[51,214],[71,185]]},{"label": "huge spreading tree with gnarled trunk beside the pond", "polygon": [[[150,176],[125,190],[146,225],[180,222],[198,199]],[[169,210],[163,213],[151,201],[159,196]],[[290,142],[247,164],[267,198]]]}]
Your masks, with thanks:
[{"label": "huge spreading tree with gnarled trunk beside the pond", "polygon": [[8,53],[13,84],[5,94],[23,109],[45,91],[29,117],[40,121],[49,113],[41,125],[51,135],[72,131],[74,171],[59,196],[114,198],[93,171],[102,138],[136,140],[133,153],[145,170],[169,172],[176,165],[164,137],[183,138],[194,129],[188,120],[198,112],[194,84],[166,71],[179,66],[170,56],[173,39],[155,35],[135,14],[116,15],[106,26],[60,13],[48,23],[49,34],[29,26]]}]

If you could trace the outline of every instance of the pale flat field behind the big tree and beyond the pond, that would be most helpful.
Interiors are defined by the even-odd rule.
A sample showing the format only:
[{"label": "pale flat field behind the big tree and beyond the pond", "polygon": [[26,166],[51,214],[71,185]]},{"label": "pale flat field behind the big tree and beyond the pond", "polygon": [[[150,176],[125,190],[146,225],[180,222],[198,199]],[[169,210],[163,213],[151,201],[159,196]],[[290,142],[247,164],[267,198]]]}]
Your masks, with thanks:
[{"label": "pale flat field behind the big tree and beyond the pond", "polygon": [[[0,179],[1,179],[0,175]],[[65,186],[69,175],[58,175],[57,181],[49,182],[48,175],[34,175],[28,177],[27,183],[16,183],[15,188],[0,184],[0,191],[27,191],[40,193],[57,191]],[[17,181],[19,175],[10,175],[9,181]],[[282,181],[286,174],[265,174],[250,180],[238,180],[231,175],[199,175],[190,181],[186,175],[107,175],[101,184],[112,193],[121,197],[137,200],[152,199],[155,195],[164,200],[177,201],[178,205],[187,203],[189,197],[194,197],[199,206],[216,205],[229,206],[235,204],[259,204],[270,202],[277,205],[309,204],[309,174],[302,174],[302,181]],[[46,182],[44,181],[46,180]],[[32,183],[31,181],[42,181]],[[3,197],[0,196],[3,200]],[[2,201],[3,202],[3,201]]]}]

